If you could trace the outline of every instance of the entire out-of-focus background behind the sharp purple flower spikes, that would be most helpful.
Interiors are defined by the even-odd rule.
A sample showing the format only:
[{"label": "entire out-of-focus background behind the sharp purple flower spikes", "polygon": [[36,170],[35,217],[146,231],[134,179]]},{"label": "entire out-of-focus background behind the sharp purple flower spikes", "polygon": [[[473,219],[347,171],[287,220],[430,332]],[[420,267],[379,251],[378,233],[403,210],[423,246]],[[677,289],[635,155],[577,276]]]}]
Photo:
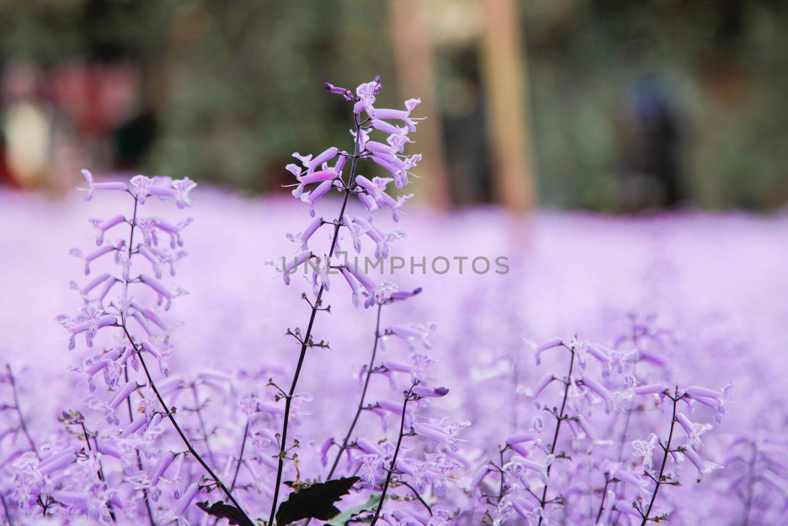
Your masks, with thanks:
[{"label": "entire out-of-focus background behind the sharp purple flower spikes", "polygon": [[[0,405],[14,409],[0,414],[0,496],[11,498],[12,462],[28,447],[17,412],[37,446],[72,440],[56,417],[87,395],[67,371],[86,351],[81,341],[66,351],[52,320],[83,306],[69,279],[85,279],[84,263],[69,249],[94,243],[86,219],[128,215],[131,202],[105,193],[84,203],[73,190],[80,169],[199,183],[184,230],[190,256],[175,278],[189,295],[168,313],[183,323],[170,367],[187,379],[232,375],[206,401],[211,440],[230,458],[243,430],[238,398],[273,405],[263,383],[289,382],[297,354],[281,334],[306,322],[299,293],[311,285],[285,288],[261,264],[291,254],[284,233],[307,220],[282,188],[293,182],[284,166],[294,151],[351,147],[348,104],[324,82],[355,88],[380,74],[380,107],[420,97],[414,114],[428,118],[412,145],[424,155],[422,178],[406,188],[414,200],[399,225],[385,214],[376,225],[407,230],[392,256],[452,259],[446,274],[399,273],[403,289],[424,291],[387,307],[384,325],[437,322],[429,353],[450,394],[431,414],[472,422],[448,498],[460,524],[478,524],[485,509],[463,484],[532,425],[530,388],[563,374],[559,358],[536,367],[523,339],[575,333],[659,354],[652,381],[735,382],[735,403],[704,435],[704,459],[726,467],[701,486],[690,472],[686,487],[666,489],[675,524],[783,524],[786,24],[777,0],[0,0],[0,364],[19,395],[10,372],[0,376]],[[318,217],[333,218],[336,205],[327,196]],[[466,261],[462,274],[457,256],[505,256],[510,271],[475,274]],[[332,349],[310,349],[303,368],[305,478],[322,475],[325,438],[348,429],[373,339],[374,312],[353,308],[333,280],[332,314],[315,322]],[[407,360],[405,347],[381,353]],[[605,381],[623,389],[622,375]],[[400,387],[371,389],[393,400]],[[86,413],[91,428],[104,425]],[[182,418],[195,432],[194,416]],[[618,439],[615,418],[597,420],[602,435]],[[359,436],[385,437],[370,420]],[[664,435],[654,422],[625,427],[619,461],[633,462],[632,439]],[[269,491],[275,470],[263,468],[255,483]],[[589,473],[596,506],[604,480],[596,464]],[[259,504],[251,491],[242,498]]]}]

